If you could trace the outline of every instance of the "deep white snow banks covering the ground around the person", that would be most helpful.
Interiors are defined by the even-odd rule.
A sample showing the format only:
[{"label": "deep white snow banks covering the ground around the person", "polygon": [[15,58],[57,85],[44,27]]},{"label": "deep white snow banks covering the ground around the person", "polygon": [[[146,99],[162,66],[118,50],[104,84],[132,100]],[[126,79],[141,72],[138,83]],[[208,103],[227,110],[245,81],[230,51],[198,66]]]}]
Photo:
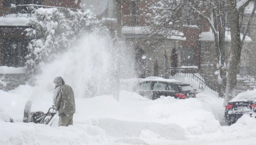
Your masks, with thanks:
[{"label": "deep white snow banks covering the ground around the person", "polygon": [[[221,126],[223,99],[203,93],[184,100],[149,100],[126,90],[120,91],[120,101],[111,95],[77,97],[73,126],[57,127],[57,120],[52,126],[23,123],[28,97],[21,90],[29,94],[31,89],[0,91],[0,118],[6,114],[16,120],[0,119],[0,144],[253,144],[256,140],[255,119],[243,116],[231,126]],[[46,111],[50,104],[36,99],[33,110]]]}]

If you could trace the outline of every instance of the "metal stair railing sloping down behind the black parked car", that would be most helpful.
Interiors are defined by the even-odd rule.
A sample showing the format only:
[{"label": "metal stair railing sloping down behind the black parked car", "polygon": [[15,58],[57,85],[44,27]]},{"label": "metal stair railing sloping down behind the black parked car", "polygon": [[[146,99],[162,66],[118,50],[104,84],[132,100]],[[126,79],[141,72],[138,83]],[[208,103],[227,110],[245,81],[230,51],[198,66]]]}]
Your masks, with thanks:
[{"label": "metal stair railing sloping down behind the black parked car", "polygon": [[170,68],[171,78],[183,77],[193,81],[200,89],[205,90],[215,96],[218,96],[218,84],[212,80],[203,77],[198,68]]}]

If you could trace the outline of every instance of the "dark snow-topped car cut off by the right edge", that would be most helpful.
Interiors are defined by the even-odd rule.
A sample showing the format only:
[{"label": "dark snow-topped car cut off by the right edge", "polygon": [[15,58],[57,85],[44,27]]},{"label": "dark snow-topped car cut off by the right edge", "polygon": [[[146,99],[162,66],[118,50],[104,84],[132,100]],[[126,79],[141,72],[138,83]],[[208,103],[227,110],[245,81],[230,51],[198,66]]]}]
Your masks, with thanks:
[{"label": "dark snow-topped car cut off by the right edge", "polygon": [[243,114],[255,117],[256,90],[248,90],[239,93],[225,106],[225,121],[230,125],[235,123]]}]

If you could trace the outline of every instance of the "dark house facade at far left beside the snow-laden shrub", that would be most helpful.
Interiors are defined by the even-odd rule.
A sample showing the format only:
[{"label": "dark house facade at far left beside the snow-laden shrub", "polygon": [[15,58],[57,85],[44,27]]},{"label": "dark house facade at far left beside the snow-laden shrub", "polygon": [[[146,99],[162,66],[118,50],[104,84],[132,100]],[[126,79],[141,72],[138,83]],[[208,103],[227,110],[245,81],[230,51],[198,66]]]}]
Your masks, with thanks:
[{"label": "dark house facade at far left beside the snow-laden shrub", "polygon": [[[28,78],[21,68],[25,66],[30,41],[26,37],[26,23],[35,8],[78,8],[79,4],[80,0],[0,0],[0,79],[7,82],[0,83],[0,89],[13,89]],[[14,69],[7,71],[7,67]]]}]

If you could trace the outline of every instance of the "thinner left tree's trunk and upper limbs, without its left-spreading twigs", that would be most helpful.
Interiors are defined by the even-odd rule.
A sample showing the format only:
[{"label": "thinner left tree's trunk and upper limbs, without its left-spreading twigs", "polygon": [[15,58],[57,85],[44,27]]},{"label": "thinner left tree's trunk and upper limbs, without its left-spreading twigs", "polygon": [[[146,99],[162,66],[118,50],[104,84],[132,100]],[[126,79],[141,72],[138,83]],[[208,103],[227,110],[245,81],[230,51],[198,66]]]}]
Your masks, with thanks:
[{"label": "thinner left tree's trunk and upper limbs, without its left-spreading twigs", "polygon": [[[201,18],[208,22],[214,34],[214,47],[218,57],[218,93],[224,97],[226,85],[225,64],[225,29],[227,0],[190,0],[193,9]],[[207,10],[208,9],[208,10]]]}]

